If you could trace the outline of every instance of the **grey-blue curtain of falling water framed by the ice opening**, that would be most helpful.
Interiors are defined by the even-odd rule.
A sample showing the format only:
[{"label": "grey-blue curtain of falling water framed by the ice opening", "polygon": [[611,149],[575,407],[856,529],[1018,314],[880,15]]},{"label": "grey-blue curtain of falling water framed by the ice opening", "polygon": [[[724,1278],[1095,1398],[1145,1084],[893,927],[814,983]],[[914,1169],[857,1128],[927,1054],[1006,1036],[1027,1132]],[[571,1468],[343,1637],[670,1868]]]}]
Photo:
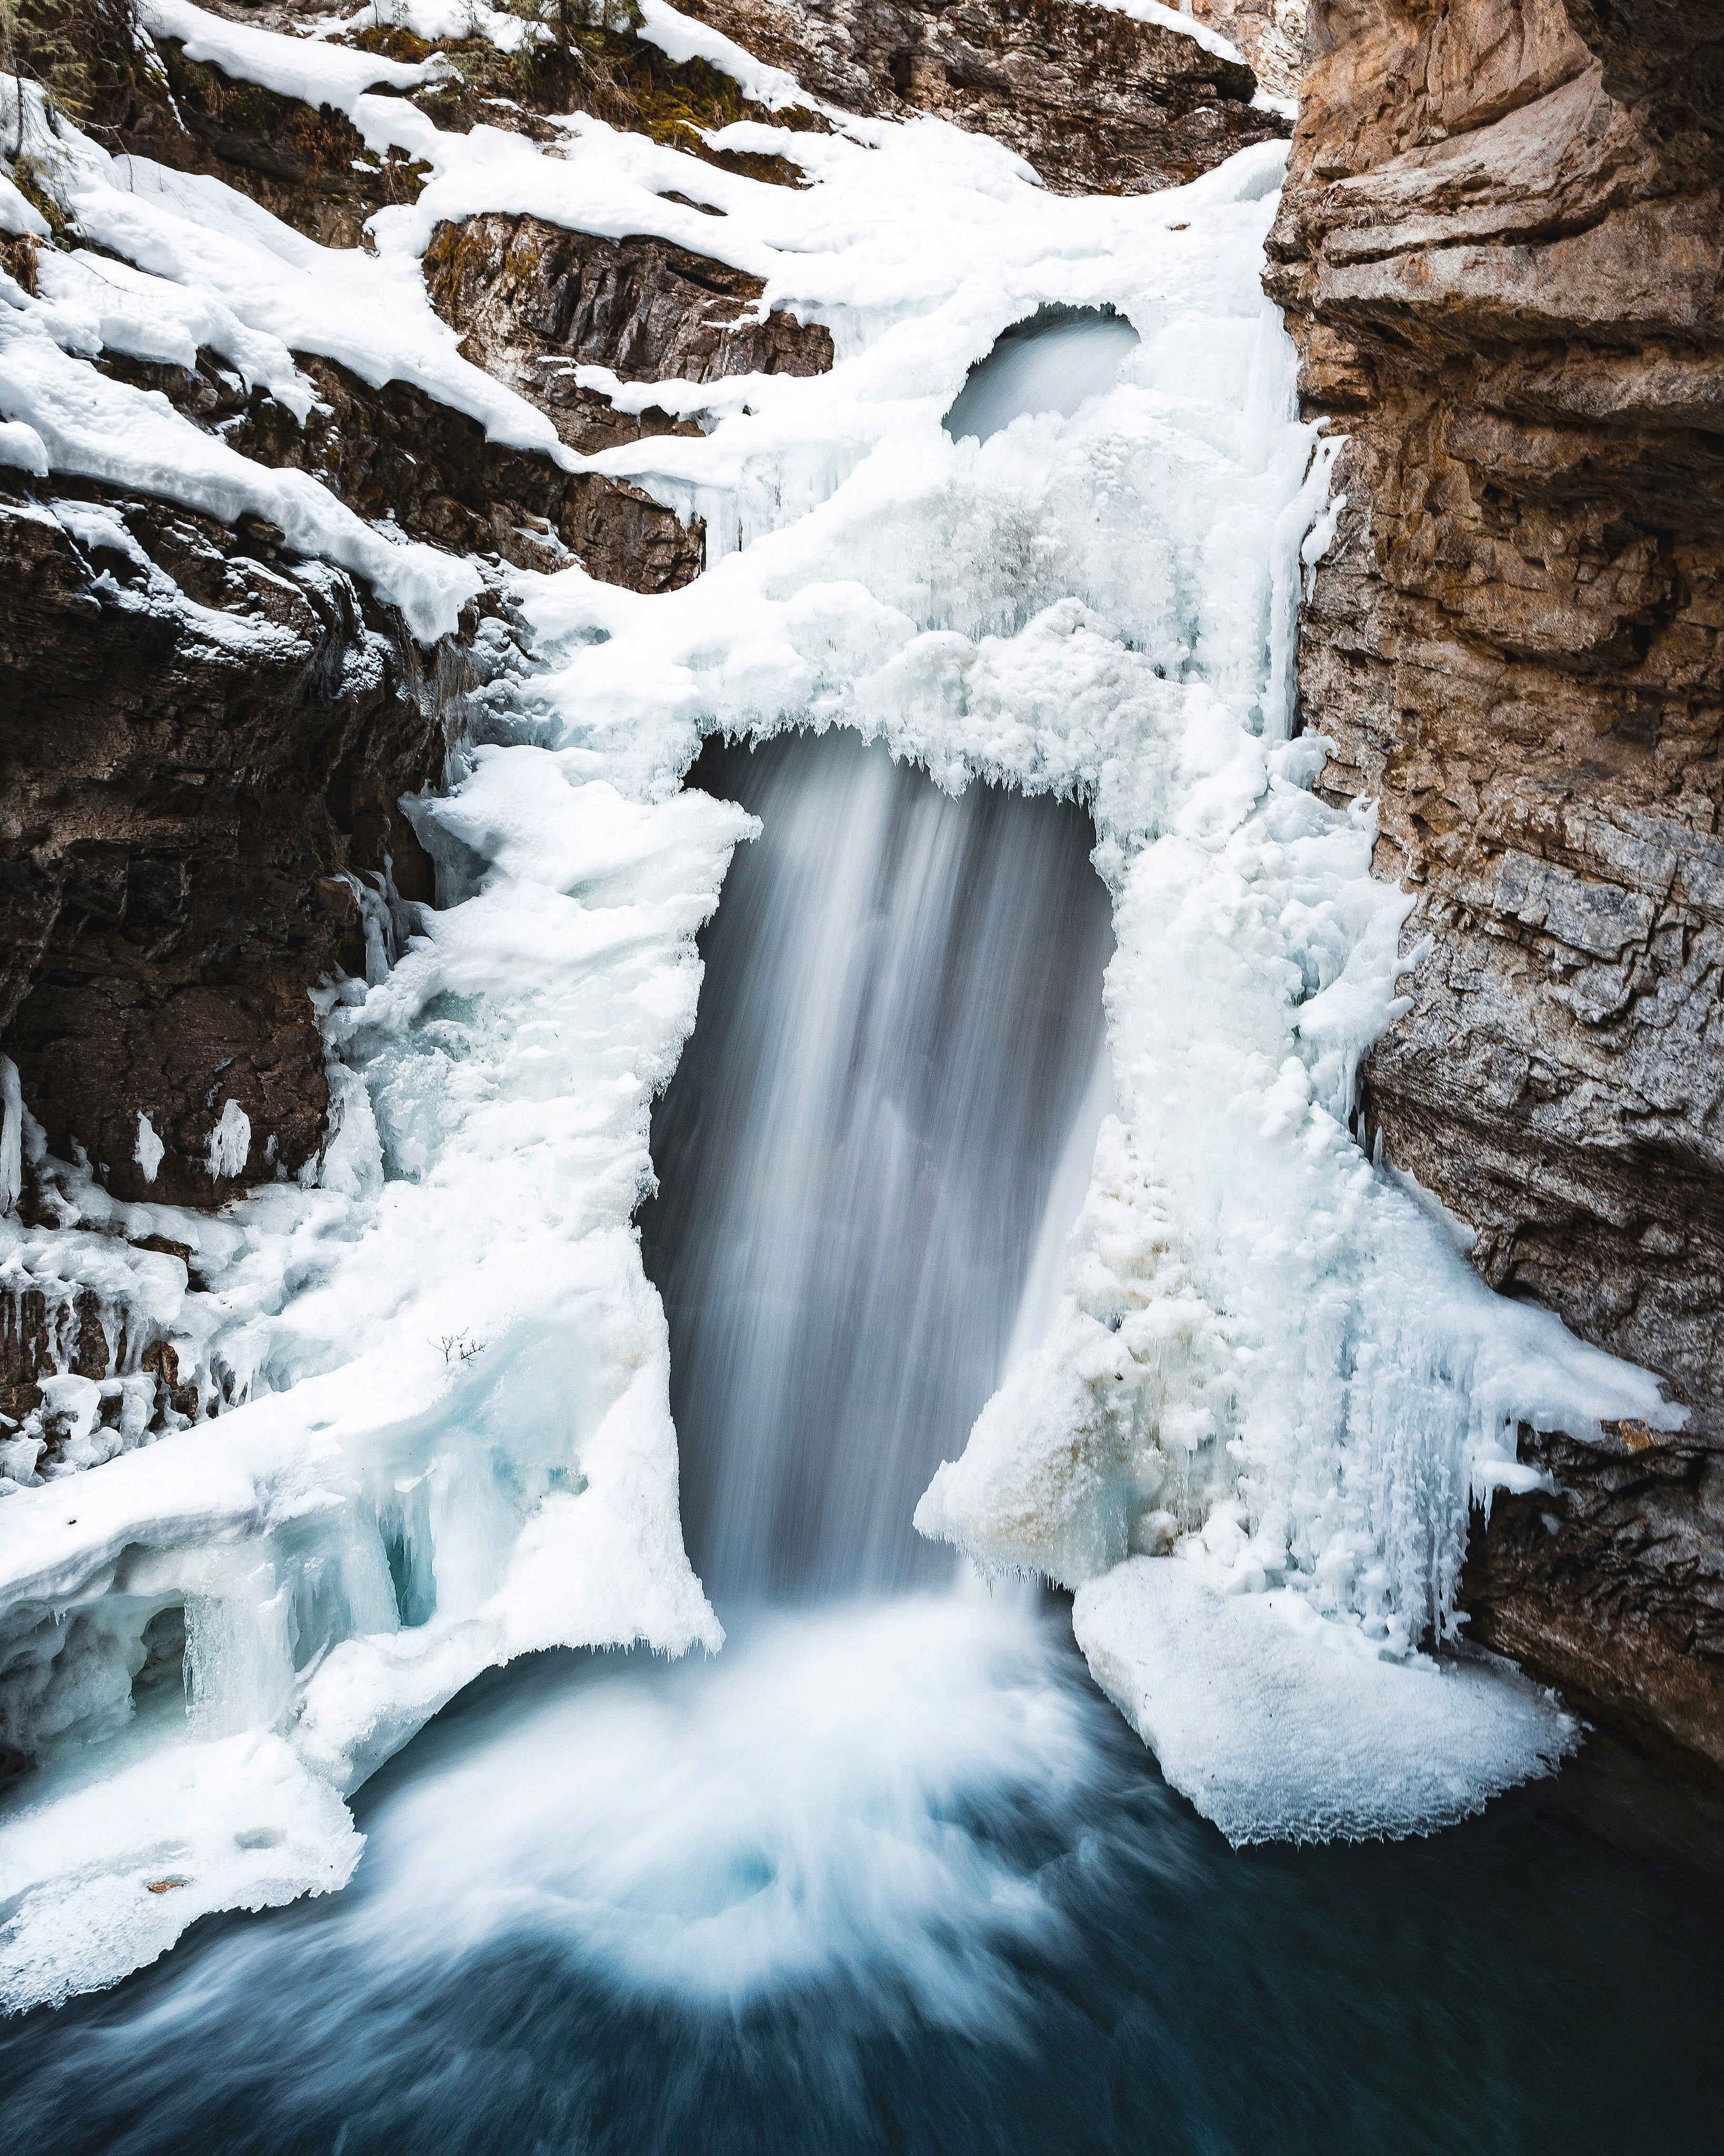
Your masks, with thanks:
[{"label": "grey-blue curtain of falling water framed by the ice opening", "polygon": [[1000,1382],[1062,1153],[1095,1147],[1095,839],[853,735],[713,744],[692,783],[763,832],[707,931],[642,1220],[690,1554],[720,1602],[948,1574],[916,1498]]}]

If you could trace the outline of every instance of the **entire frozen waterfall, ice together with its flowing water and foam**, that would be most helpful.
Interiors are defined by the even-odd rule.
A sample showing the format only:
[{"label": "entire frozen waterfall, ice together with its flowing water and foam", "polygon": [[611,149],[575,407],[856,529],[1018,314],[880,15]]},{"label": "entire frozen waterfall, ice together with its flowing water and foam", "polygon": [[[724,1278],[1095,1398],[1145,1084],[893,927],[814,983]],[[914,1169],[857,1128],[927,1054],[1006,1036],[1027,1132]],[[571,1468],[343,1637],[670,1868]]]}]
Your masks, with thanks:
[{"label": "entire frozen waterfall, ice together with its flowing water and foam", "polygon": [[[808,188],[703,164],[709,218],[664,144],[448,132],[371,95],[369,54],[181,11],[241,75],[409,127],[431,177],[377,254],[330,250],[71,129],[80,231],[155,265],[151,351],[190,287],[280,395],[321,351],[567,455],[418,267],[440,218],[530,209],[724,252],[836,364],[618,392],[698,420],[599,461],[703,515],[707,569],[506,580],[414,804],[440,903],[319,990],[315,1186],[209,1218],[69,1162],[84,1225],[17,1229],[37,1283],[147,1300],[209,1384],[190,1427],[4,1498],[0,1742],[28,1768],[0,1996],[345,1887],[371,1777],[485,1671],[567,1647],[724,1645],[722,1688],[644,1651],[571,1677],[472,1841],[504,1947],[550,1936],[586,1981],[640,1932],[672,1975],[707,1943],[756,1996],[797,1966],[920,1981],[1004,1912],[1009,1962],[1058,1934],[1030,1882],[1121,1757],[1011,1574],[1075,1591],[1090,1671],[1235,1841],[1414,1833],[1547,1766],[1549,1701],[1420,1651],[1452,1649],[1468,1505],[1521,1473],[1519,1419],[1670,1410],[1493,1298],[1349,1128],[1414,955],[1293,696],[1336,444],[1261,295],[1280,147],[1067,198],[879,121],[797,134]],[[159,397],[127,433],[140,392],[13,313],[56,442],[97,410],[62,399],[75,367],[119,479],[228,487],[213,438]],[[244,500],[280,522],[287,476]],[[295,530],[453,619],[474,565],[349,524]],[[655,1177],[668,1315],[634,1225]],[[388,1874],[403,1813],[360,1811]],[[371,1936],[384,1990],[399,1945]]]}]

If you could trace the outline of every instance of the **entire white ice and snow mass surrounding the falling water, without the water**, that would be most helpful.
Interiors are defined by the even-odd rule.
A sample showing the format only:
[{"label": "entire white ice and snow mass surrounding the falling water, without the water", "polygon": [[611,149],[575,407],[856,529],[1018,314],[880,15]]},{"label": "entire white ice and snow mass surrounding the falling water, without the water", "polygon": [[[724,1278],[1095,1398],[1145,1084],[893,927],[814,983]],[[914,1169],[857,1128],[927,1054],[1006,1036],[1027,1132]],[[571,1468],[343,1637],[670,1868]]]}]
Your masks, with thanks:
[{"label": "entire white ice and snow mass surrounding the falling water, without the water", "polygon": [[[435,0],[414,9],[440,26]],[[588,116],[552,151],[440,134],[369,93],[416,67],[187,0],[144,0],[144,19],[338,106],[431,177],[373,218],[375,254],[338,254],[218,181],[50,134],[26,93],[37,183],[103,252],[52,257],[34,298],[0,285],[0,455],[265,515],[442,634],[476,565],[84,364],[103,343],[205,343],[304,401],[293,351],[317,351],[700,513],[711,567],[668,597],[580,567],[506,576],[519,647],[483,632],[474,731],[418,808],[444,906],[403,908],[369,979],[325,996],[336,1117],[317,1184],[209,1218],[119,1205],[73,1164],[82,1225],[0,1225],[9,1294],[39,1294],[56,1324],[82,1291],[147,1300],[196,1371],[185,1427],[153,1445],[116,1367],[50,1380],[67,1473],[34,1475],[34,1436],[4,1447],[0,1744],[41,1772],[0,1813],[0,1999],[110,1981],[205,1908],[338,1884],[356,1854],[338,1794],[491,1662],[554,1641],[718,1645],[629,1227],[649,1104],[694,1024],[694,934],[752,830],[679,791],[715,729],[843,722],[948,789],[983,774],[1080,796],[1101,832],[1118,1115],[1052,1330],[918,1524],[989,1570],[1080,1585],[1095,1667],[1228,1830],[1364,1820],[1358,1781],[1381,1766],[1338,1740],[1302,1753],[1299,1781],[1276,1744],[1194,1705],[1202,1671],[1246,1697],[1271,1615],[1280,1680],[1319,1688],[1325,1729],[1440,1686],[1478,1703],[1409,1710],[1427,1751],[1455,1740],[1444,1789],[1386,1800],[1375,1824],[1450,1815],[1537,1766],[1545,1708],[1407,1656],[1452,1623],[1465,1507],[1519,1473],[1517,1419],[1668,1427],[1670,1410],[1642,1373],[1491,1298],[1349,1130],[1358,1059],[1409,964],[1407,901],[1368,877],[1368,819],[1312,796],[1319,742],[1289,740],[1330,451],[1295,416],[1259,293],[1280,151],[1168,194],[1073,201],[987,138],[838,114],[795,138],[810,185],[789,190]],[[787,101],[784,78],[664,0],[646,22]],[[780,147],[754,123],[718,140]],[[838,364],[634,386],[705,433],[573,459],[425,300],[435,222],[489,209],[718,254],[767,304],[825,321]],[[0,194],[9,229],[34,216]],[[1112,388],[950,440],[970,367],[1043,306],[1134,326]],[[9,1190],[32,1130],[9,1082]],[[194,1266],[138,1250],[144,1235]],[[1323,1690],[1334,1654],[1364,1675]]]}]

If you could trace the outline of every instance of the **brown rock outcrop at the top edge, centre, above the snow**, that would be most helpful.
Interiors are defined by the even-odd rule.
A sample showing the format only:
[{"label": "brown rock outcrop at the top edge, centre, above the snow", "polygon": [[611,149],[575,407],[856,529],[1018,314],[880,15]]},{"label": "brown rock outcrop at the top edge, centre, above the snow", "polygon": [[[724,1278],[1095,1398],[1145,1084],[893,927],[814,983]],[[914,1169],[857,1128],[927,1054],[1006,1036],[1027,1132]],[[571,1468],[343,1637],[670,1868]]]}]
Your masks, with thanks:
[{"label": "brown rock outcrop at the top edge, centre, above the snow", "polygon": [[1177,188],[1287,134],[1256,78],[1088,0],[687,0],[685,13],[849,112],[935,112],[1062,194]]}]

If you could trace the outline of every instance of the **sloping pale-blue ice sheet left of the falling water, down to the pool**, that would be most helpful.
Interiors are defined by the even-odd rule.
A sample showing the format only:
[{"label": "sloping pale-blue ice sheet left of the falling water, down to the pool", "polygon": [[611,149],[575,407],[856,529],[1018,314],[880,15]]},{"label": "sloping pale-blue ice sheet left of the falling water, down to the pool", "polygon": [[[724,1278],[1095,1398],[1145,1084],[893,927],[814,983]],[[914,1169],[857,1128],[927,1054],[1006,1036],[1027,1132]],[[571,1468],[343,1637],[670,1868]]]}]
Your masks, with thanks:
[{"label": "sloping pale-blue ice sheet left of the falling water, down to the pool", "polygon": [[[627,1216],[694,1018],[692,938],[748,819],[703,796],[636,808],[530,746],[481,750],[435,813],[481,888],[332,1011],[353,1063],[325,1190],[226,1216],[250,1404],[4,1503],[0,1714],[43,1770],[0,1813],[2,2005],[114,1981],[200,1908],[340,1882],[321,1856],[233,1856],[287,1802],[280,1777],[239,1777],[177,1813],[196,1893],[140,1902],[170,1800],[91,1785],[88,1746],[142,1744],[129,1772],[170,1774],[175,1718],[127,1727],[157,1613],[185,1613],[190,1729],[274,1746],[325,1826],[489,1664],[722,1639],[683,1557],[664,1313]],[[127,1212],[140,1231],[166,1207]]]}]

